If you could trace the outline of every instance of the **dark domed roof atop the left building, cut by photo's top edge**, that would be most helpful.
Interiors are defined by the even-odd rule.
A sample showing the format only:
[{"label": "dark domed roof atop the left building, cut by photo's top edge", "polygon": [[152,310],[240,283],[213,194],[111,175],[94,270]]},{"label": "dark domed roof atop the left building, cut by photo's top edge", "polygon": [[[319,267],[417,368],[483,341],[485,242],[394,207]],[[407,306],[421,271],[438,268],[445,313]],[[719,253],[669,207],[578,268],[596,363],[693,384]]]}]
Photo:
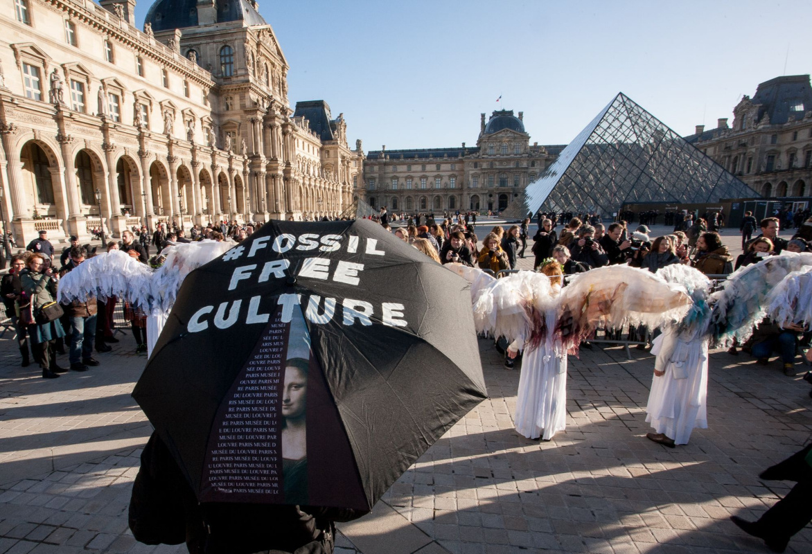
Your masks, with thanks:
[{"label": "dark domed roof atop the left building, cut by photo's top edge", "polygon": [[[251,0],[215,0],[217,23],[242,21],[245,25],[266,25]],[[153,32],[197,27],[197,0],[158,0],[149,7],[145,23]]]}]

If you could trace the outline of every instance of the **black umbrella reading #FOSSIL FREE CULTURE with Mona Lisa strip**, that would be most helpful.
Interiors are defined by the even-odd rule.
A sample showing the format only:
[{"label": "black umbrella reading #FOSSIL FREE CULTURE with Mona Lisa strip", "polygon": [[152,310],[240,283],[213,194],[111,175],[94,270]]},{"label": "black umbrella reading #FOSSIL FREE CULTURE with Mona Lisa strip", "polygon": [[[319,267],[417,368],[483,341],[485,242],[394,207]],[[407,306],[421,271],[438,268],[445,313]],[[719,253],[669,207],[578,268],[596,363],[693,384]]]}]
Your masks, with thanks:
[{"label": "black umbrella reading #FOSSIL FREE CULTURE with Mona Lisa strip", "polygon": [[469,284],[372,221],[193,271],[132,393],[201,501],[371,509],[486,397]]}]

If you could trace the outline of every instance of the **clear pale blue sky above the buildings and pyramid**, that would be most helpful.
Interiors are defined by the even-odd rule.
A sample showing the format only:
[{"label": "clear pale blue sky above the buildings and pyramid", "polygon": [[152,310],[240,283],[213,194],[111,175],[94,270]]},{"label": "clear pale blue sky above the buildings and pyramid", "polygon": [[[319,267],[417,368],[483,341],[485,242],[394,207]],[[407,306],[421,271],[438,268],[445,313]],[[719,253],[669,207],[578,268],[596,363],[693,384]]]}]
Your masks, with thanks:
[{"label": "clear pale blue sky above the buildings and pyramid", "polygon": [[[531,141],[567,144],[621,91],[689,135],[703,122],[732,122],[758,83],[810,73],[808,0],[259,7],[290,64],[292,107],[327,101],[367,151],[473,145],[479,114],[502,108],[525,112]],[[136,6],[139,26],[148,8]]]}]

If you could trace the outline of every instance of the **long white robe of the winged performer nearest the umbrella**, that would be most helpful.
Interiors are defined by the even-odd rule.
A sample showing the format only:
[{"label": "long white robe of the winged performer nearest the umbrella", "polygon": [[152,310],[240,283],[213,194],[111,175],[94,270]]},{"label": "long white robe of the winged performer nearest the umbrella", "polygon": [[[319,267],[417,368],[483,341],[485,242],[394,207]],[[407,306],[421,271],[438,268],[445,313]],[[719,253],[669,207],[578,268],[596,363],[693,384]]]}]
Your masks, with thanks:
[{"label": "long white robe of the winged performer nearest the umbrella", "polygon": [[[546,328],[555,329],[557,312],[545,314]],[[519,392],[516,396],[516,431],[529,439],[550,440],[567,426],[567,351],[554,337],[546,337],[538,348],[524,348],[525,337],[509,348],[523,348]]]}]

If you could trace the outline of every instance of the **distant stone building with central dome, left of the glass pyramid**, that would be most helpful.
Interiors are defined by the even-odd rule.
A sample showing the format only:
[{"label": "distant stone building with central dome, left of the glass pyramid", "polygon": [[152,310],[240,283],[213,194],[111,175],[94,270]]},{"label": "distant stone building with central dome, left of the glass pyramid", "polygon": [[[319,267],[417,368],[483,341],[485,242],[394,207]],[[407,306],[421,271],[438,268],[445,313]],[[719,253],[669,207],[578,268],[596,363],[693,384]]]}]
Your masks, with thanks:
[{"label": "distant stone building with central dome, left of the glass pyramid", "polygon": [[522,112],[485,117],[476,147],[367,152],[356,196],[393,212],[503,210],[564,146],[530,145]]}]

